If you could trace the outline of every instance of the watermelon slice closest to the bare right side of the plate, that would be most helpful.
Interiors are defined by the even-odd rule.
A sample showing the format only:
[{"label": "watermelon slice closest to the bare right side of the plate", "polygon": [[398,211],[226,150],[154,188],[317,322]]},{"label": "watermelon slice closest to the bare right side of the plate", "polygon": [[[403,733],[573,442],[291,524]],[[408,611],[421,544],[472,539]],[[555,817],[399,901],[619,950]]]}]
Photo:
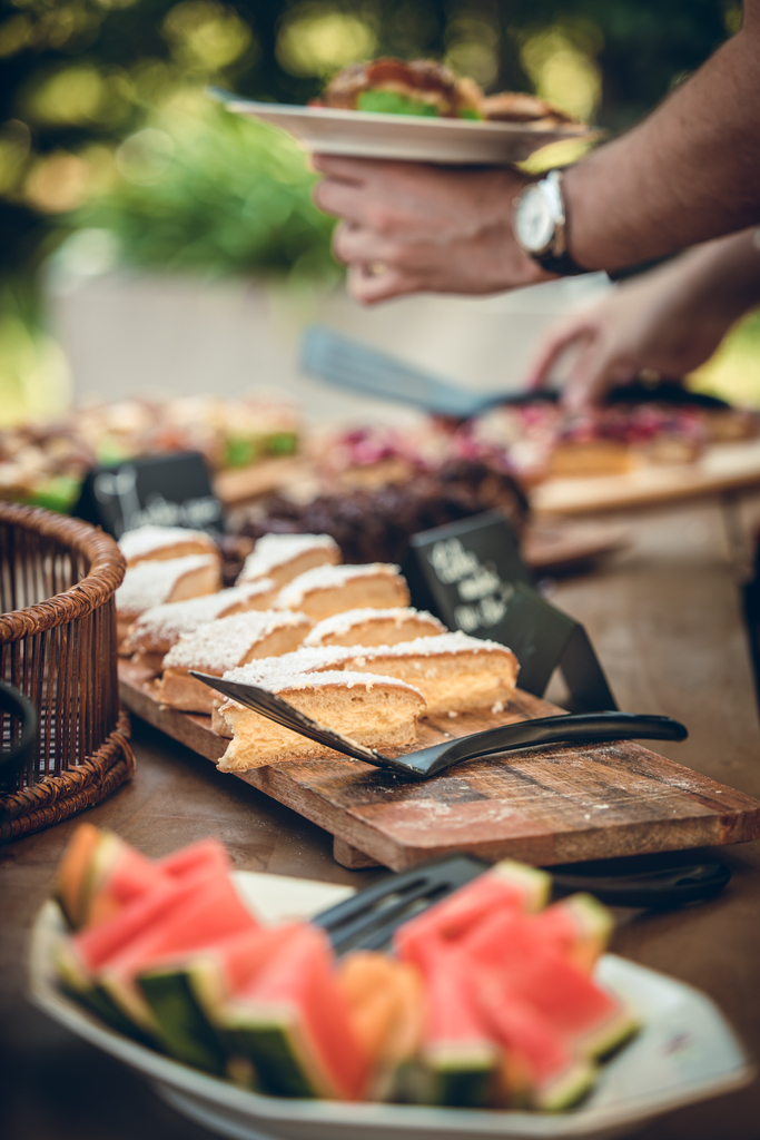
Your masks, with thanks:
[{"label": "watermelon slice closest to the bare right side of the plate", "polygon": [[636,1031],[622,1002],[546,945],[532,915],[492,915],[465,939],[461,952],[474,967],[493,970],[582,1056],[602,1057]]}]

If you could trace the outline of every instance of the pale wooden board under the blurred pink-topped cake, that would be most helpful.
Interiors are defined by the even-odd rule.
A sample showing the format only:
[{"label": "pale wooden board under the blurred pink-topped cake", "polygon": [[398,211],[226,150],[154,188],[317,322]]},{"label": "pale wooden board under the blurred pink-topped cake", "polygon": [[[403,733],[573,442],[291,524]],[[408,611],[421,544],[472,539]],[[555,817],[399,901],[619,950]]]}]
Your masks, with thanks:
[{"label": "pale wooden board under the blurred pink-topped cake", "polygon": [[760,439],[713,443],[695,463],[651,464],[621,475],[547,479],[531,490],[539,514],[659,506],[760,486]]}]

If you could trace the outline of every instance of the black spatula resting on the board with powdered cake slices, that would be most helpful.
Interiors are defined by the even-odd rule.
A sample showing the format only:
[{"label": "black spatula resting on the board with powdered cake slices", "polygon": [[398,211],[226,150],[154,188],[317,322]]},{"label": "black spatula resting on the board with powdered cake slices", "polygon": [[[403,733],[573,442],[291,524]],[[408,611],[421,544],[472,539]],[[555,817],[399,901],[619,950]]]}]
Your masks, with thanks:
[{"label": "black spatula resting on the board with powdered cake slices", "polygon": [[205,673],[190,669],[190,676],[238,705],[253,709],[262,716],[276,720],[285,728],[316,740],[336,752],[365,760],[378,768],[391,768],[415,780],[428,780],[439,775],[452,764],[474,760],[493,752],[505,752],[517,748],[538,748],[541,744],[569,744],[608,740],[685,740],[685,726],[669,716],[647,716],[638,712],[565,712],[562,716],[539,717],[536,720],[520,720],[516,724],[499,725],[469,736],[442,744],[432,744],[418,752],[406,756],[384,756],[376,748],[366,748],[334,728],[327,728],[318,720],[300,712],[281,697],[270,693],[259,685],[239,681],[224,681]]}]

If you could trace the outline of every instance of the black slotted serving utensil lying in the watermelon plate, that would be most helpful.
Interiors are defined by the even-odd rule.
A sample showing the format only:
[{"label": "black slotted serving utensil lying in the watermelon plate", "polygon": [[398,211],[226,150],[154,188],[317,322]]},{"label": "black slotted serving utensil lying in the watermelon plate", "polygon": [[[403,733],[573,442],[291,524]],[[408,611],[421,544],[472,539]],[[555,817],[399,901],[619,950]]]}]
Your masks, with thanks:
[{"label": "black slotted serving utensil lying in the watermelon plate", "polygon": [[[336,954],[384,950],[402,923],[422,914],[489,869],[472,855],[453,855],[392,874],[311,921],[329,936]],[[610,906],[664,910],[712,898],[730,879],[724,863],[670,866],[637,874],[599,876],[551,870],[555,895],[585,890]]]}]

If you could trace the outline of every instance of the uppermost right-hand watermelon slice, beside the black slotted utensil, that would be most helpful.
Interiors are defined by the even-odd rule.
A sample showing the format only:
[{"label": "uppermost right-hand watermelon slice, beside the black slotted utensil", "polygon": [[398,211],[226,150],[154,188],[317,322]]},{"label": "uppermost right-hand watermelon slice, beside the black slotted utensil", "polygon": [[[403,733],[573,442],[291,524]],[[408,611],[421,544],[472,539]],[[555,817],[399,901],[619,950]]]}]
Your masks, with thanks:
[{"label": "uppermost right-hand watermelon slice, beside the black slotted utensil", "polygon": [[394,935],[395,950],[400,958],[417,961],[416,947],[424,951],[432,937],[456,944],[497,910],[540,910],[550,889],[551,877],[546,871],[502,860],[466,887],[399,927]]}]

